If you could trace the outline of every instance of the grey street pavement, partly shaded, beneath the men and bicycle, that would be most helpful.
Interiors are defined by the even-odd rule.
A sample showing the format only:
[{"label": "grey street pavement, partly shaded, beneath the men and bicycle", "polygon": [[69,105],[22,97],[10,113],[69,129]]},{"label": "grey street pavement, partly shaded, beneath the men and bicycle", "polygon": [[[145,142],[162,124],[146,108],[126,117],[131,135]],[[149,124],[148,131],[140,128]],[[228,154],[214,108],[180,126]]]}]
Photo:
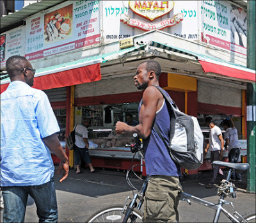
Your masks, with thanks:
[{"label": "grey street pavement, partly shaded, beneath the men and bicycle", "polygon": [[[56,166],[56,169],[58,167]],[[70,170],[68,178],[60,183],[60,176],[55,175],[56,194],[58,200],[59,222],[84,222],[92,213],[111,204],[124,204],[127,196],[132,197],[131,187],[125,180],[123,171],[102,170],[97,173],[89,173],[84,170],[81,174],[76,174],[74,169]],[[227,172],[225,172],[227,174]],[[143,181],[138,180],[132,174],[131,181],[138,188],[141,187]],[[205,171],[195,175],[189,175],[181,181],[184,192],[193,194],[200,198],[218,202],[216,196],[217,187],[207,189],[205,184],[211,178],[211,172]],[[242,183],[236,183],[237,198],[227,198],[232,201],[239,213],[245,214],[255,210],[255,194],[246,192],[246,173],[242,174]],[[33,199],[29,199],[26,210],[25,222],[38,222],[36,216],[36,206]],[[227,205],[225,205],[226,207]],[[232,210],[232,208],[227,208]],[[1,211],[1,221],[3,220],[3,212]],[[212,222],[214,210],[192,203],[189,205],[186,201],[180,201],[179,204],[180,222]],[[225,215],[220,217],[220,222],[228,222]]]}]

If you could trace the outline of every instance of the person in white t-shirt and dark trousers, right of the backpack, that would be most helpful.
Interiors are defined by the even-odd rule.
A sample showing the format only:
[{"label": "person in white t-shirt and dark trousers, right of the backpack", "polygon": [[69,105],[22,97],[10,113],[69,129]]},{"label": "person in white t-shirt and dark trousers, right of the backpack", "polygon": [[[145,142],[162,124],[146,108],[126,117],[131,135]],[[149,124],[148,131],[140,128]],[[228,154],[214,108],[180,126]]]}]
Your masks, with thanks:
[{"label": "person in white t-shirt and dark trousers, right of the backpack", "polygon": [[[218,126],[214,125],[213,119],[211,117],[207,117],[205,119],[205,124],[207,127],[210,127],[209,134],[209,143],[207,144],[207,148],[205,148],[205,154],[207,150],[211,151],[211,162],[212,161],[220,161],[223,157],[223,149],[224,149],[224,140],[222,137],[221,130]],[[211,181],[205,186],[206,188],[212,188],[218,173],[221,175],[221,180],[224,179],[223,171],[221,171],[218,165],[212,165],[213,175]]]}]

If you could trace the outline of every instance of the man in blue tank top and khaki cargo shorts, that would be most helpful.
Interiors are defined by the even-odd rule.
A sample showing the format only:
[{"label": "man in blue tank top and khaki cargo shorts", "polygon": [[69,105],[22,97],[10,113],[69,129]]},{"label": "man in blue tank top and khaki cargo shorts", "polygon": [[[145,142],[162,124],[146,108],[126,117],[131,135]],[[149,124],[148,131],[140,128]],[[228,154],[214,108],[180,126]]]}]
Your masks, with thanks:
[{"label": "man in blue tank top and khaki cargo shorts", "polygon": [[[177,206],[179,192],[182,189],[177,166],[163,140],[159,137],[157,125],[166,143],[169,143],[170,116],[159,86],[161,66],[150,60],[138,66],[134,83],[138,89],[145,90],[139,107],[139,124],[135,127],[118,121],[116,133],[137,133],[143,139],[145,164],[148,175],[148,187],[145,194],[145,222],[179,221]],[[168,93],[166,93],[168,95]]]}]

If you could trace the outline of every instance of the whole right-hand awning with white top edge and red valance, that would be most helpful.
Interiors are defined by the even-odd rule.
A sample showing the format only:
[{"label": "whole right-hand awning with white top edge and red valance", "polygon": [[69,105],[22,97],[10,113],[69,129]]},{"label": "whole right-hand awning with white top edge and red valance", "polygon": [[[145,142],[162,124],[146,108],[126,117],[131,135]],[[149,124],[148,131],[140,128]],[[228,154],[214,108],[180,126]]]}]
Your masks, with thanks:
[{"label": "whole right-hand awning with white top edge and red valance", "polygon": [[203,54],[191,52],[189,50],[181,49],[179,47],[172,47],[163,43],[150,41],[148,45],[164,50],[170,50],[172,52],[177,52],[179,54],[195,56],[195,58],[199,61],[200,65],[202,65],[205,73],[217,73],[226,77],[255,82],[255,70],[246,68],[245,66],[236,65],[234,63],[224,61],[220,58],[205,56]]}]

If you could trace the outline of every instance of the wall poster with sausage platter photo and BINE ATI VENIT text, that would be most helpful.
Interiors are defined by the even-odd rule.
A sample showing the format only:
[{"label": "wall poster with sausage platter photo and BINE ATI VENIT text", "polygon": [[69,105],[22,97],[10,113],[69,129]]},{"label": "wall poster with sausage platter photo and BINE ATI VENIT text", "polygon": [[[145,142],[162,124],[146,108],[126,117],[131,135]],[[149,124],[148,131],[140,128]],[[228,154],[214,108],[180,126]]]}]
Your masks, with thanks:
[{"label": "wall poster with sausage platter photo and BINE ATI VENIT text", "polygon": [[27,19],[26,58],[40,59],[100,42],[99,1],[67,1]]}]

